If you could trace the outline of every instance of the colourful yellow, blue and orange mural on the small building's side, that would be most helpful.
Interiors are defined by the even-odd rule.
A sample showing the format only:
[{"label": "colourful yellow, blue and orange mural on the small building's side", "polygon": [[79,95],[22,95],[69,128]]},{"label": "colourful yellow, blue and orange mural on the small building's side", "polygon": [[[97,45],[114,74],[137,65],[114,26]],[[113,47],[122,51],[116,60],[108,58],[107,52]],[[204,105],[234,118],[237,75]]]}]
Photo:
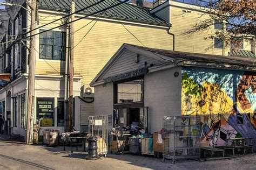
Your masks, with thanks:
[{"label": "colourful yellow, blue and orange mural on the small building's side", "polygon": [[256,149],[256,72],[183,67],[181,100],[181,115],[201,117],[201,142],[250,137]]}]

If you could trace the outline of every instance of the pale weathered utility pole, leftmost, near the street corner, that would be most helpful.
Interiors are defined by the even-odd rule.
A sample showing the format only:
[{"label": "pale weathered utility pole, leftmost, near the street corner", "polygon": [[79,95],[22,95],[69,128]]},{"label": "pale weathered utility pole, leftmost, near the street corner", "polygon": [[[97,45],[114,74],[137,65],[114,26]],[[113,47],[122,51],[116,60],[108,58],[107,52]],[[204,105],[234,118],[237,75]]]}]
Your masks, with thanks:
[{"label": "pale weathered utility pole, leftmost, near the street corner", "polygon": [[[36,6],[37,0],[31,0],[31,35],[35,34],[36,29]],[[27,109],[27,123],[26,123],[26,144],[31,143],[31,117],[34,104],[35,91],[35,37],[32,36],[29,47],[29,84],[28,84],[28,109]]]}]

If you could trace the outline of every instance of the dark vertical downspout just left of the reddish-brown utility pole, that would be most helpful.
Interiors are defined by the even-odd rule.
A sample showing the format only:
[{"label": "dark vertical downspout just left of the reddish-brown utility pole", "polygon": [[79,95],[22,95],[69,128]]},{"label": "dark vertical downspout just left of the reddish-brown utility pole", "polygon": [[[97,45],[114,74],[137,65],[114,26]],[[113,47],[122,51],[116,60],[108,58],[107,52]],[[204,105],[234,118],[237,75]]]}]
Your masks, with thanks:
[{"label": "dark vertical downspout just left of the reddish-brown utility pole", "polygon": [[67,27],[66,56],[65,56],[65,91],[64,91],[64,129],[68,131],[68,96],[69,96],[69,48],[70,48],[70,26]]}]

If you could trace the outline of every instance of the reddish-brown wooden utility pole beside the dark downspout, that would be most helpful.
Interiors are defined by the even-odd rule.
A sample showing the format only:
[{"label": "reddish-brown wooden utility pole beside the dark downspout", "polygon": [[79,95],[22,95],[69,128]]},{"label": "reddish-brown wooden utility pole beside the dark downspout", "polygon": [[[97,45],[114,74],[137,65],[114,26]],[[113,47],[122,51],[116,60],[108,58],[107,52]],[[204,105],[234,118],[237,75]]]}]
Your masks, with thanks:
[{"label": "reddish-brown wooden utility pole beside the dark downspout", "polygon": [[[75,12],[75,1],[71,2],[71,13]],[[75,42],[75,14],[71,15],[70,27],[70,65],[69,65],[69,112],[68,112],[68,131],[73,131],[72,112],[73,112],[73,76],[74,76],[74,42]]]}]

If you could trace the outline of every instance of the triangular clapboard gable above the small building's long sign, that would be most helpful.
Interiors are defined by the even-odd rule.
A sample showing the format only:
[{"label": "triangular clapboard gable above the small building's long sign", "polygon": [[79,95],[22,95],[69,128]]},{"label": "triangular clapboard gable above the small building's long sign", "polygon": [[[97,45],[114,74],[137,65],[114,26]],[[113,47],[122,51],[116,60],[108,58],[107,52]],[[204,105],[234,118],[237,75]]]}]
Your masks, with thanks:
[{"label": "triangular clapboard gable above the small building's long sign", "polygon": [[107,70],[107,72],[103,75],[102,79],[143,68],[145,67],[145,62],[147,62],[146,66],[150,66],[151,64],[160,65],[163,63],[159,60],[152,59],[144,55],[140,55],[139,62],[135,63],[134,60],[136,59],[136,57],[137,53],[126,50],[123,55],[120,56],[120,58],[114,63],[114,65],[112,65],[112,67]]}]

